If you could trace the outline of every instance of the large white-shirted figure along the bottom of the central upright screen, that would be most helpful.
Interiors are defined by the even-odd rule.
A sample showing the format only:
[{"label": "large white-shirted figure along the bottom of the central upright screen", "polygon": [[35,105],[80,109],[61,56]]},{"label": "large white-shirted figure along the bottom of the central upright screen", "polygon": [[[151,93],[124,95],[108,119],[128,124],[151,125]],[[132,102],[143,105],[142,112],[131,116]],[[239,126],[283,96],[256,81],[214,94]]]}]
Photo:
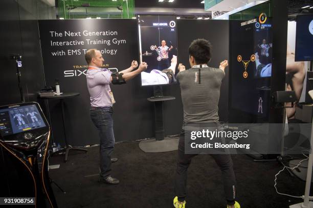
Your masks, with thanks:
[{"label": "large white-shirted figure along the bottom of the central upright screen", "polygon": [[173,56],[170,67],[163,69],[151,70],[150,73],[141,72],[141,83],[143,86],[146,85],[167,85],[176,83],[175,79],[175,68],[177,65],[177,57]]}]

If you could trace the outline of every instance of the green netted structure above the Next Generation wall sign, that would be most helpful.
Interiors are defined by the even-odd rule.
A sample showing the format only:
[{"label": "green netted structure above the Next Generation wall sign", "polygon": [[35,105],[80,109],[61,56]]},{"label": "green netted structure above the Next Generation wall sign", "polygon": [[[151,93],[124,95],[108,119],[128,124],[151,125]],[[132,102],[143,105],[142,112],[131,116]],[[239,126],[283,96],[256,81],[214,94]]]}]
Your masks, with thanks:
[{"label": "green netted structure above the Next Generation wall sign", "polygon": [[135,0],[59,0],[58,16],[64,19],[128,19],[135,17]]}]

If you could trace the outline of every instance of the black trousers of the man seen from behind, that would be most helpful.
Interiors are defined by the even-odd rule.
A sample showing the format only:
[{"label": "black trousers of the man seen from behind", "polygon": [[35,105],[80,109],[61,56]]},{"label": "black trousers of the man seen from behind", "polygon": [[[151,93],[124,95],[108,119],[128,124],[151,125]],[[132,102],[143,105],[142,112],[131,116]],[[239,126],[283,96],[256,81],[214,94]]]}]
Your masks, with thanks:
[{"label": "black trousers of the man seen from behind", "polygon": [[[191,160],[197,154],[185,154],[185,134],[180,135],[178,144],[178,160],[175,177],[175,193],[179,201],[186,198],[187,172]],[[210,154],[222,172],[224,191],[228,205],[235,204],[236,198],[236,178],[233,170],[233,161],[230,154]],[[209,167],[210,168],[210,167]],[[208,168],[208,169],[209,169]],[[209,174],[209,172],[208,172]]]}]

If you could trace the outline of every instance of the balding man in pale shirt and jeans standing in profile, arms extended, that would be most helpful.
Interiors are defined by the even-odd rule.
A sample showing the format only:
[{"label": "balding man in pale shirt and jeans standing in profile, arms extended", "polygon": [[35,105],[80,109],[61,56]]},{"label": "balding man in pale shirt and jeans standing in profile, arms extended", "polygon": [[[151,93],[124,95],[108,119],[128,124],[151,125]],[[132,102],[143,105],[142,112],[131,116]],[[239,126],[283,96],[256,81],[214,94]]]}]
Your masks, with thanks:
[{"label": "balding man in pale shirt and jeans standing in profile, arms extended", "polygon": [[[100,136],[100,183],[119,184],[117,178],[111,177],[111,162],[117,158],[111,158],[114,150],[115,138],[113,132],[113,104],[115,103],[110,84],[114,84],[113,72],[102,69],[104,59],[97,49],[86,51],[85,60],[88,64],[87,88],[90,93],[90,116],[99,131]],[[147,69],[147,64],[142,62],[138,67],[137,61],[132,61],[131,66],[119,73],[122,79],[128,81]],[[134,70],[134,71],[133,71]],[[120,79],[120,76],[118,77]]]}]

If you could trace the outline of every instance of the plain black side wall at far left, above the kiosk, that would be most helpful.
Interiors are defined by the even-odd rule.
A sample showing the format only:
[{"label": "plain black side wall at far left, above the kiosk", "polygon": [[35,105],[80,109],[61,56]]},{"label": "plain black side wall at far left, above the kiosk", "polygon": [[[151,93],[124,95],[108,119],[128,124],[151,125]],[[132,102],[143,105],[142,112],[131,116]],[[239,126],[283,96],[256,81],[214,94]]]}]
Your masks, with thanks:
[{"label": "plain black side wall at far left, above the kiosk", "polygon": [[[3,89],[0,106],[21,102],[16,76],[16,62],[11,54],[22,56],[21,86],[26,101],[38,101],[37,91],[43,84],[43,69],[38,33],[36,1],[2,1],[0,9],[0,70]],[[44,12],[44,10],[42,11]]]}]

